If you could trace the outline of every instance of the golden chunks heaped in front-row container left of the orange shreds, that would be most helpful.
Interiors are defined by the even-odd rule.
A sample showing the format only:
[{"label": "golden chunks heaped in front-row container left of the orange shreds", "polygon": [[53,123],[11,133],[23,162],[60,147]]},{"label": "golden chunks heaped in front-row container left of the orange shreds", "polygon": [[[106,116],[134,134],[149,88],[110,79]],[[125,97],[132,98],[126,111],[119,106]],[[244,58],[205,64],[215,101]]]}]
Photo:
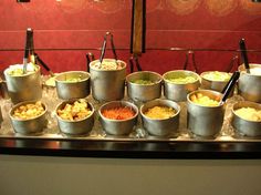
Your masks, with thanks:
[{"label": "golden chunks heaped in front-row container left of the orange shreds", "polygon": [[63,120],[79,121],[87,117],[92,109],[85,100],[80,99],[73,103],[66,103],[64,107],[58,110],[58,115]]}]

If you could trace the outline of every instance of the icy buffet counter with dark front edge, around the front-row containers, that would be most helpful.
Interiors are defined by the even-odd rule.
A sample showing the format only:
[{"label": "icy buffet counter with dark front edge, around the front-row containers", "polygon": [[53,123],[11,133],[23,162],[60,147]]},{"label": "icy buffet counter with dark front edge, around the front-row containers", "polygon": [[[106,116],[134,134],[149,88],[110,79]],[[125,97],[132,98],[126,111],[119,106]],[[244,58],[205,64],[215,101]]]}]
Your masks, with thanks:
[{"label": "icy buffet counter with dark front edge, around the front-row containers", "polygon": [[[127,98],[125,98],[127,99]],[[53,114],[62,100],[55,89],[44,89],[42,101],[48,105],[48,127],[43,134],[15,133],[8,115],[10,100],[1,100],[3,122],[0,129],[0,153],[40,156],[85,156],[117,158],[261,158],[260,137],[247,137],[230,125],[230,106],[240,96],[229,99],[221,132],[215,137],[200,137],[187,130],[186,103],[181,106],[178,132],[168,136],[152,136],[143,129],[140,119],[129,135],[108,135],[98,116],[92,132],[84,136],[67,136],[60,132]],[[87,98],[97,109],[100,103]]]}]

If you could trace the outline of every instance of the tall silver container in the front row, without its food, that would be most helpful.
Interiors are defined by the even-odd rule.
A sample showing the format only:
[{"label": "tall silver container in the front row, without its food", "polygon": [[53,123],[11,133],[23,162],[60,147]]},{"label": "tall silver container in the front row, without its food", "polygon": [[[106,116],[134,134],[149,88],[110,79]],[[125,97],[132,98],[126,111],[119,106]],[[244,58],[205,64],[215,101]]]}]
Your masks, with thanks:
[{"label": "tall silver container in the front row, without its food", "polygon": [[200,136],[217,135],[223,124],[225,106],[203,106],[191,101],[191,95],[201,93],[213,100],[221,100],[222,94],[211,90],[198,90],[187,96],[188,129]]}]

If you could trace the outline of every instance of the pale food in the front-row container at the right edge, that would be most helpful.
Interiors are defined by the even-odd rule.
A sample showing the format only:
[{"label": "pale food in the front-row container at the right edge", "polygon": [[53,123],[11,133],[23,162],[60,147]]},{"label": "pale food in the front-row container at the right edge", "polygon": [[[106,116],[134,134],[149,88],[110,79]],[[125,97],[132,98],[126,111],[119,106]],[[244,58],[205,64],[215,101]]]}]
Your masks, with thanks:
[{"label": "pale food in the front-row container at the right edge", "polygon": [[253,107],[241,107],[236,110],[234,113],[243,120],[261,122],[261,110]]}]

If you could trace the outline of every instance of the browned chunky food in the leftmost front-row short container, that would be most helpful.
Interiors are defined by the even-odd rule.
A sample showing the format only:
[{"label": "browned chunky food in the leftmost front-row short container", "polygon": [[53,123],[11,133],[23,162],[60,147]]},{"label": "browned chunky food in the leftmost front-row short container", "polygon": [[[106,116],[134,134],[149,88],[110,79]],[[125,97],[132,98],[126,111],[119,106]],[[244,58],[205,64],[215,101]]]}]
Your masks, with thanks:
[{"label": "browned chunky food in the leftmost front-row short container", "polygon": [[20,105],[13,111],[13,117],[19,120],[30,120],[41,115],[44,112],[43,104],[38,101],[35,103],[28,103],[24,105]]}]

